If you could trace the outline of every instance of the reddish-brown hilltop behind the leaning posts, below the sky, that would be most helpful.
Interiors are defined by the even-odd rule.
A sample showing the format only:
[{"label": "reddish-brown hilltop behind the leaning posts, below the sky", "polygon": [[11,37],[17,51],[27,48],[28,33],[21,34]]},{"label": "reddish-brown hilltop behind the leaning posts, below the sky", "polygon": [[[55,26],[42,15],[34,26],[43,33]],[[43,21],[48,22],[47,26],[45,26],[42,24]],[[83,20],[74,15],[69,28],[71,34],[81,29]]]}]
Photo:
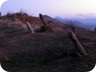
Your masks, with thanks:
[{"label": "reddish-brown hilltop behind the leaning posts, below the sky", "polygon": [[[55,19],[49,17],[47,15],[43,15],[44,21],[55,31],[55,30],[62,30],[64,24],[61,24]],[[33,17],[28,15],[27,13],[8,13],[7,15],[3,16],[0,19],[0,22],[10,23],[10,26],[21,26],[26,29],[26,22],[29,22],[34,28],[40,28],[42,26],[42,22],[39,17]]]}]

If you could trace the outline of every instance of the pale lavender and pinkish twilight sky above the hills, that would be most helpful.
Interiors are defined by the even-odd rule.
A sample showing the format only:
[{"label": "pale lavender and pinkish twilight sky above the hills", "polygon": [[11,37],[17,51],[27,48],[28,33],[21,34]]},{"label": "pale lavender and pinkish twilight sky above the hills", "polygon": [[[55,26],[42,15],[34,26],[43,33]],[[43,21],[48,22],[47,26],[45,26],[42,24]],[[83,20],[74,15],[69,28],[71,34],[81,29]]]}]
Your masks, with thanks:
[{"label": "pale lavender and pinkish twilight sky above the hills", "polygon": [[7,0],[1,6],[2,15],[20,12],[38,16],[39,13],[52,17],[96,16],[96,0]]}]

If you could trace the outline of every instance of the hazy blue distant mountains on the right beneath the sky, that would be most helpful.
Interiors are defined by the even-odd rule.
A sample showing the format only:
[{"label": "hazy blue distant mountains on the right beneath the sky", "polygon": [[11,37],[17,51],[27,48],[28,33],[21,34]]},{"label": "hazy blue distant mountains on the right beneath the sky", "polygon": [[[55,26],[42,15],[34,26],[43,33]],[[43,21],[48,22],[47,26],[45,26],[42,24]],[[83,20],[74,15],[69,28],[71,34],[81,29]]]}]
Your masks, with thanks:
[{"label": "hazy blue distant mountains on the right beneath the sky", "polygon": [[64,23],[64,24],[70,24],[72,23],[74,26],[78,26],[80,28],[94,30],[96,27],[96,18],[70,18],[70,19],[62,19],[60,17],[56,17],[56,20]]}]

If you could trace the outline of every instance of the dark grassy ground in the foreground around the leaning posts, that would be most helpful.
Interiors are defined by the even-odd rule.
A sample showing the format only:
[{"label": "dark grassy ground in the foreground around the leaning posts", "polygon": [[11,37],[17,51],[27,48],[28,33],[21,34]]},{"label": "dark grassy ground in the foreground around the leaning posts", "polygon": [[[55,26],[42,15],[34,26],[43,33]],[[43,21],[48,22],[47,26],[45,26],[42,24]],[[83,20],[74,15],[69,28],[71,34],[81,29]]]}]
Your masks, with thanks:
[{"label": "dark grassy ground in the foreground around the leaning posts", "polygon": [[96,62],[96,32],[76,30],[88,56],[78,57],[67,31],[35,33],[0,25],[0,62],[9,72],[87,72]]}]

